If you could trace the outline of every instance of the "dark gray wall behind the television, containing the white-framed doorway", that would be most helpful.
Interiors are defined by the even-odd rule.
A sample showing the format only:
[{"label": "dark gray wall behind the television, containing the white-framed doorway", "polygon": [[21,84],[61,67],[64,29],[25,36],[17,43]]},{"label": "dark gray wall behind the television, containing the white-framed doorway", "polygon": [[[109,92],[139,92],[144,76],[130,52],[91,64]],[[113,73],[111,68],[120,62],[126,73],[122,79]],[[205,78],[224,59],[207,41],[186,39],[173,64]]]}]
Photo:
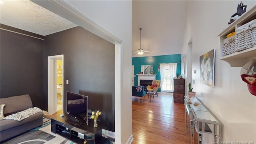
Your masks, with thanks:
[{"label": "dark gray wall behind the television, containing the white-framed doorway", "polygon": [[[48,56],[64,54],[64,112],[66,91],[88,96],[89,113],[100,110],[114,132],[114,44],[78,26],[44,37],[43,92],[48,105]],[[69,84],[66,84],[66,80]]]}]

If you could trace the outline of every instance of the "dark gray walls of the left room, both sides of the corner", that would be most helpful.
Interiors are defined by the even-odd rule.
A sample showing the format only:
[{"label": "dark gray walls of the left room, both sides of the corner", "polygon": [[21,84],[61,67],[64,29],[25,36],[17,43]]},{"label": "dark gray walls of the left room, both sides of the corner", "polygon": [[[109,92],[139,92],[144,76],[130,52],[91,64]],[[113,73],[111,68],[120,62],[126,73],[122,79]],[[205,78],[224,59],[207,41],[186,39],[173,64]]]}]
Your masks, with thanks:
[{"label": "dark gray walls of the left room, both sides of the corner", "polygon": [[34,106],[48,111],[48,56],[64,54],[64,112],[66,91],[86,95],[89,114],[100,110],[99,119],[114,132],[114,44],[82,27],[44,40],[4,30],[0,34],[1,98],[29,94]]}]

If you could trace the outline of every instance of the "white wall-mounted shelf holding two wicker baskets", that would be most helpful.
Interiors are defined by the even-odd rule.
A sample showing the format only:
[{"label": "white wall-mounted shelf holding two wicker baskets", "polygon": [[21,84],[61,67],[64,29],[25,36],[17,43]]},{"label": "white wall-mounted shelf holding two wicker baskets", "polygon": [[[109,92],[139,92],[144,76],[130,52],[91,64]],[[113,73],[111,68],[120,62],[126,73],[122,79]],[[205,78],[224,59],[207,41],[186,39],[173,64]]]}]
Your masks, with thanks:
[{"label": "white wall-mounted shelf holding two wicker baskets", "polygon": [[242,26],[243,24],[246,24],[250,22],[251,20],[256,19],[256,5],[253,6],[250,10],[242,14],[240,18],[235,20],[226,28],[223,30],[218,36],[220,36],[220,60],[224,60],[230,64],[231,67],[241,67],[246,64],[250,59],[256,59],[256,46],[253,48],[249,48],[247,50],[243,50],[240,52],[235,52],[233,54],[229,54],[228,56],[222,56],[222,46],[223,41],[226,38],[228,34],[231,32],[234,32],[236,28],[239,26]]}]

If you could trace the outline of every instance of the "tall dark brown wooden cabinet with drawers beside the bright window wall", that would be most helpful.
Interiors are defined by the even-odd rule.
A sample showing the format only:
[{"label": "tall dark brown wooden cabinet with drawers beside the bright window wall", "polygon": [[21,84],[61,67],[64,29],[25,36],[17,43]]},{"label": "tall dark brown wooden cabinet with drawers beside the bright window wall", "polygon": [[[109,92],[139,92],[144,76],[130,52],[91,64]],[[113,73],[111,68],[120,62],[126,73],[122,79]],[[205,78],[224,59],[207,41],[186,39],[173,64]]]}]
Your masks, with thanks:
[{"label": "tall dark brown wooden cabinet with drawers beside the bright window wall", "polygon": [[174,102],[184,103],[185,79],[174,78]]}]

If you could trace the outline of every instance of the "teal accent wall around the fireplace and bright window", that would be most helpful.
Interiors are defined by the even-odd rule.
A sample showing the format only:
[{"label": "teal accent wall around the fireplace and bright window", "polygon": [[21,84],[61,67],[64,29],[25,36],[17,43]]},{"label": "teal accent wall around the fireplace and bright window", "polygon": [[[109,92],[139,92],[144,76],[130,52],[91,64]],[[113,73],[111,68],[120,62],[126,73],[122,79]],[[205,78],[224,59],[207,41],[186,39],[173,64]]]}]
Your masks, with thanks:
[{"label": "teal accent wall around the fireplace and bright window", "polygon": [[[164,56],[144,56],[132,58],[132,65],[134,65],[134,74],[140,72],[141,65],[153,65],[153,71],[156,73],[156,80],[160,80],[160,72],[158,72],[159,64],[162,63],[178,63],[177,64],[177,74],[180,75],[180,60],[181,54],[171,54]],[[177,75],[176,74],[176,75]],[[138,76],[134,77],[134,86],[138,86]]]}]

